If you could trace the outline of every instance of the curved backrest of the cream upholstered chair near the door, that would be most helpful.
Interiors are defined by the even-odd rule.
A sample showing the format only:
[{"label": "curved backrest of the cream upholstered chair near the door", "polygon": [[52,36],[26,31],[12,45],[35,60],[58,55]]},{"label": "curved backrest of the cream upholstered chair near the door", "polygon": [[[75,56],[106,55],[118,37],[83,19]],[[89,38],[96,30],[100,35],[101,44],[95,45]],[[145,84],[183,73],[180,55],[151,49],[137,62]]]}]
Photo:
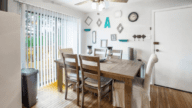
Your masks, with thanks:
[{"label": "curved backrest of the cream upholstered chair near the door", "polygon": [[158,62],[157,55],[152,54],[147,63],[147,69],[146,69],[145,80],[144,80],[144,89],[148,93],[150,92],[150,80],[151,80],[153,67],[154,67],[155,63],[157,63],[157,62]]}]

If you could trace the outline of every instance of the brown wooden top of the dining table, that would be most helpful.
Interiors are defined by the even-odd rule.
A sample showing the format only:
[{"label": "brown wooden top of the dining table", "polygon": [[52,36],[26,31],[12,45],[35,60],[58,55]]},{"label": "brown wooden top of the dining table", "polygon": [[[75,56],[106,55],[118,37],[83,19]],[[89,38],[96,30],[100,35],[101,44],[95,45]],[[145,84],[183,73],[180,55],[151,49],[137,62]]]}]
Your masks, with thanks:
[{"label": "brown wooden top of the dining table", "polygon": [[[56,63],[63,65],[63,60],[55,60]],[[131,61],[131,60],[119,60],[112,59],[106,60],[105,62],[100,63],[101,74],[104,74],[104,77],[108,75],[118,76],[120,78],[129,78],[134,79],[137,72],[141,68],[142,62]]]}]

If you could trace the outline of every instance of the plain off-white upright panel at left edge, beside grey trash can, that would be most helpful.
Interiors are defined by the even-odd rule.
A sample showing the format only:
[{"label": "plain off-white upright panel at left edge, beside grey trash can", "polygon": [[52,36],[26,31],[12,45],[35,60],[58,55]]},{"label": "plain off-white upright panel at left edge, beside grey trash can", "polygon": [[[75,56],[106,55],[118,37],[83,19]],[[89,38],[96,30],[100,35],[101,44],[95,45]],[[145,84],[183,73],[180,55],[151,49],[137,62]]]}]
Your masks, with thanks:
[{"label": "plain off-white upright panel at left edge, beside grey trash can", "polygon": [[0,11],[0,108],[21,108],[20,16]]}]

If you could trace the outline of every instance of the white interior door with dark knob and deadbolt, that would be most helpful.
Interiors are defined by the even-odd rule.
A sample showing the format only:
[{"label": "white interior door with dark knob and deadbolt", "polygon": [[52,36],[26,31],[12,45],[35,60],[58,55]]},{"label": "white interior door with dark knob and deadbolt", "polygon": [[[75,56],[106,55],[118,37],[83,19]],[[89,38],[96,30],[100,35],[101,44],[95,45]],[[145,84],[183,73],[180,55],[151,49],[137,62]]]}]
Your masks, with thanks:
[{"label": "white interior door with dark knob and deadbolt", "polygon": [[155,12],[155,84],[192,92],[192,8]]}]

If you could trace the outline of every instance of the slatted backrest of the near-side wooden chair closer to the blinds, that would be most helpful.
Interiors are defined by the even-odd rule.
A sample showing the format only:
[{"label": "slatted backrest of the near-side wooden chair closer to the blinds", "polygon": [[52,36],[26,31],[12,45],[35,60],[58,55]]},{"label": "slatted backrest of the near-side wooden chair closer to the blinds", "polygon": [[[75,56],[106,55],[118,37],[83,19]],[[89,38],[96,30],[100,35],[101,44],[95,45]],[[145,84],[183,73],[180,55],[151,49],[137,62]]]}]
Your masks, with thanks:
[{"label": "slatted backrest of the near-side wooden chair closer to the blinds", "polygon": [[68,73],[77,74],[77,81],[79,82],[79,66],[77,54],[64,54],[62,53],[64,68],[65,68],[65,79],[68,78]]}]

